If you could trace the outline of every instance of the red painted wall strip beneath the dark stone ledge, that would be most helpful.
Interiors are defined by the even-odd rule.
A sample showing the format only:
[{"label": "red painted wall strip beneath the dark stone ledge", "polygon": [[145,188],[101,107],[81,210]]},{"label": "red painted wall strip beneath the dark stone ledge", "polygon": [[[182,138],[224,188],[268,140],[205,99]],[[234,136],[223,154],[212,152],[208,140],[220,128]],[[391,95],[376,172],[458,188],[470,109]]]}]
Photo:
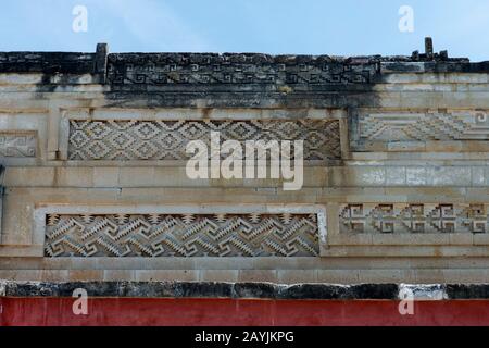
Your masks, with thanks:
[{"label": "red painted wall strip beneath the dark stone ledge", "polygon": [[388,300],[88,300],[74,315],[74,298],[0,298],[1,325],[489,325],[489,300],[418,301],[401,315]]}]

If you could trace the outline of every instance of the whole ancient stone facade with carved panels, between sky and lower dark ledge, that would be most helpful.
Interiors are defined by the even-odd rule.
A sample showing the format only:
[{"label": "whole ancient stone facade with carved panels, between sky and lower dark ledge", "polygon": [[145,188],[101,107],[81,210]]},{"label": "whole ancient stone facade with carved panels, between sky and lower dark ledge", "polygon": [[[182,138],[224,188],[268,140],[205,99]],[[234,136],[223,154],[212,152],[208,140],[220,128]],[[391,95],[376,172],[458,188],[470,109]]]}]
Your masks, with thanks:
[{"label": "whole ancient stone facade with carved panels, between sky and lower dark ledge", "polygon": [[[489,64],[440,54],[0,53],[0,278],[489,279]],[[303,185],[191,178],[302,140]]]}]

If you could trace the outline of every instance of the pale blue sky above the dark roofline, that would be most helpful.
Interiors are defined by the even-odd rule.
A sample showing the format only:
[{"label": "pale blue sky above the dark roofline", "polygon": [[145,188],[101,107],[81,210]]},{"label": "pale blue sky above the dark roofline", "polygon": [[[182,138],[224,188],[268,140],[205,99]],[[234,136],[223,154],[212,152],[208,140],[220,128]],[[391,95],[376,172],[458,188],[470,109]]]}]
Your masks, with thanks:
[{"label": "pale blue sky above the dark roofline", "polygon": [[[88,30],[75,33],[75,5]],[[414,10],[401,33],[399,8]],[[488,0],[15,0],[2,1],[0,51],[411,54],[432,36],[450,57],[489,60]]]}]

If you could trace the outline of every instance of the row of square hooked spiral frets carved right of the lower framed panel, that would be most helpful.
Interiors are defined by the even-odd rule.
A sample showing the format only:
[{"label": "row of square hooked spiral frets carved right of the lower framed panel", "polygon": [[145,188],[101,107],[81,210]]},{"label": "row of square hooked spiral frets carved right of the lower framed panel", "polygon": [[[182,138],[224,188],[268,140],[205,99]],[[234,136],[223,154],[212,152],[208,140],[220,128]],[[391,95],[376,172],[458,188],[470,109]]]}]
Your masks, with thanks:
[{"label": "row of square hooked spiral frets carved right of the lower framed panel", "polygon": [[489,204],[355,203],[340,207],[340,233],[487,233]]}]

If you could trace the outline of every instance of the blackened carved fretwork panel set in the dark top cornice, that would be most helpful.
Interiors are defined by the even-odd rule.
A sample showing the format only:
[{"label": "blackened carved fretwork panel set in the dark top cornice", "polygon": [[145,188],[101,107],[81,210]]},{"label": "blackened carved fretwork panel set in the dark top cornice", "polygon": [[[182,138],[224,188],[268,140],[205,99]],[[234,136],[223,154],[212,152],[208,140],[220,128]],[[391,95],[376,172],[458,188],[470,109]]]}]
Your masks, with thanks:
[{"label": "blackened carved fretwork panel set in the dark top cornice", "polygon": [[109,54],[112,85],[366,84],[377,59],[239,53]]}]

